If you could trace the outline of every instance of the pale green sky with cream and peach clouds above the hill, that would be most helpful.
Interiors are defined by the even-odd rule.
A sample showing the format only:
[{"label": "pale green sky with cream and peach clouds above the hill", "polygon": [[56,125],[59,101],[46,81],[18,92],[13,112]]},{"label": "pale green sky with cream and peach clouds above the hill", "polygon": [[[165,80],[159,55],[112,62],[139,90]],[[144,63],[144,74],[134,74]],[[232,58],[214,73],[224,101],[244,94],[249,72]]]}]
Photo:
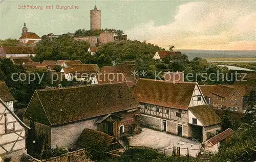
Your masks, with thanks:
[{"label": "pale green sky with cream and peach clouds above the hill", "polygon": [[[90,29],[90,10],[101,10],[101,28],[120,29],[131,40],[168,48],[256,50],[256,0],[0,0],[0,39],[28,32],[42,36]],[[19,9],[19,5],[42,6]],[[46,6],[53,5],[53,9]],[[78,6],[62,10],[59,6]]]}]

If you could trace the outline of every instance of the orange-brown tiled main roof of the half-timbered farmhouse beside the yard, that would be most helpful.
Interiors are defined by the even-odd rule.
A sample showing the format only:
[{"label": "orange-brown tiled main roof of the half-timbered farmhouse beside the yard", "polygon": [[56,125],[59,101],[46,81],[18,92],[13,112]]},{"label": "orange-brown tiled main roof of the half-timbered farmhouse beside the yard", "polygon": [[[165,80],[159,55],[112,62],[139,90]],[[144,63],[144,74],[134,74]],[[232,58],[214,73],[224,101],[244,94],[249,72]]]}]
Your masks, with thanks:
[{"label": "orange-brown tiled main roof of the half-timbered farmhouse beside the yard", "polygon": [[195,82],[177,82],[140,78],[132,94],[139,102],[186,110],[193,95]]}]

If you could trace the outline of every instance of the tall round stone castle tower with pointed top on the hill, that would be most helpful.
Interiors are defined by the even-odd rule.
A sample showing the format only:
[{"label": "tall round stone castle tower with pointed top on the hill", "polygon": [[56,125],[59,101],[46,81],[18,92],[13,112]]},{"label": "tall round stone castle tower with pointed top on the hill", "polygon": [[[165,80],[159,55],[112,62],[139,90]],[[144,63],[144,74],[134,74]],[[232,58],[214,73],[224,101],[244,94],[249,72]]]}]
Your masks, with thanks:
[{"label": "tall round stone castle tower with pointed top on the hill", "polygon": [[100,10],[95,6],[91,10],[91,30],[101,29]]}]

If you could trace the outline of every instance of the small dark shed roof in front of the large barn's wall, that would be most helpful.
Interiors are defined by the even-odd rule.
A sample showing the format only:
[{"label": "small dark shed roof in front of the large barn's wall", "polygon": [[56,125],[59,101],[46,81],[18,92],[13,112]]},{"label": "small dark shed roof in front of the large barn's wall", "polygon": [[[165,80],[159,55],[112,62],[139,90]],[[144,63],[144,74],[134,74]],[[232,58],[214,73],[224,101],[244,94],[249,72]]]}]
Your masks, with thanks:
[{"label": "small dark shed roof in front of the large barn's wall", "polygon": [[109,134],[86,128],[78,138],[77,144],[89,150],[101,149],[109,152],[111,151],[110,145],[114,142],[119,144],[119,142],[114,137],[109,136]]}]

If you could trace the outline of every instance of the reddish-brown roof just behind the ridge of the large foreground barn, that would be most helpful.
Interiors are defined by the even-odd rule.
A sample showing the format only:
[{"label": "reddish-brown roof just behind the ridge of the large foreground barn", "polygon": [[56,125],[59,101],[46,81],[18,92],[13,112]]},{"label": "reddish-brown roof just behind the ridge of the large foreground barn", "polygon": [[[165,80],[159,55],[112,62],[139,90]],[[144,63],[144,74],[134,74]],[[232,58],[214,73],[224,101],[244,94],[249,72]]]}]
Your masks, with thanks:
[{"label": "reddish-brown roof just behind the ridge of the large foreground barn", "polygon": [[123,73],[111,73],[96,75],[98,84],[108,84],[108,83],[121,83],[126,82],[126,78]]}]

